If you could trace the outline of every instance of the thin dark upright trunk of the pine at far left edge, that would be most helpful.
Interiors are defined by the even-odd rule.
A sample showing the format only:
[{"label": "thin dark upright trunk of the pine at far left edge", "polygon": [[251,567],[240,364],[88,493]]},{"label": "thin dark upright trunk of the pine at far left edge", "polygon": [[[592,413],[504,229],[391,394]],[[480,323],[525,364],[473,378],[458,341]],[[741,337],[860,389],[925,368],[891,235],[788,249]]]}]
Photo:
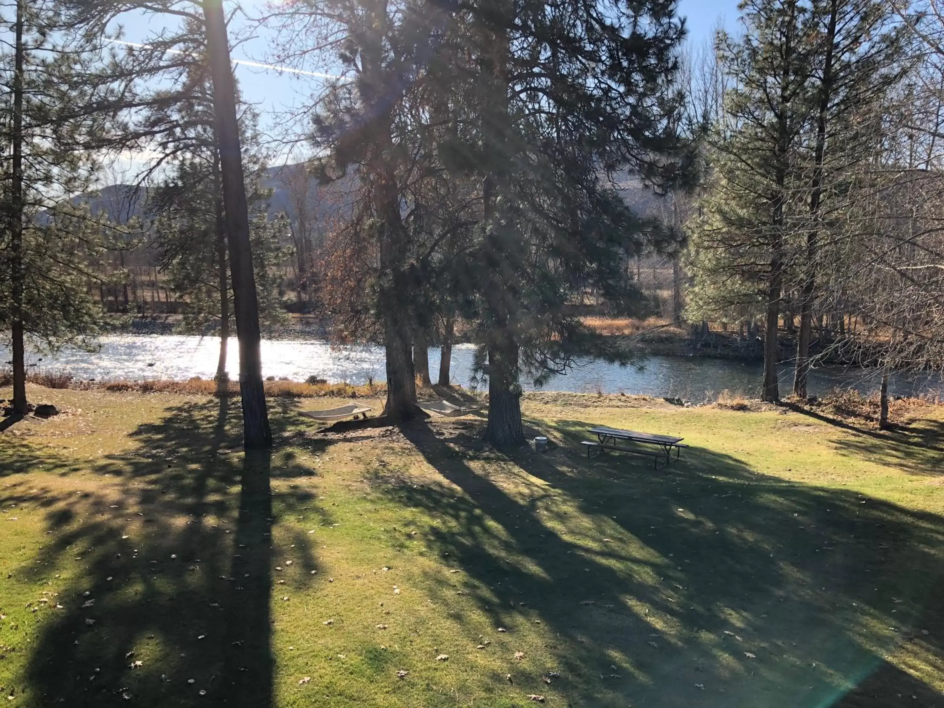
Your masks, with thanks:
[{"label": "thin dark upright trunk of the pine at far left edge", "polygon": [[25,415],[28,412],[26,401],[26,361],[24,344],[23,300],[25,273],[23,265],[23,72],[25,47],[23,44],[23,7],[24,0],[16,4],[15,59],[13,67],[13,144],[10,162],[10,284],[11,300],[10,327],[11,349],[13,355],[13,413]]}]

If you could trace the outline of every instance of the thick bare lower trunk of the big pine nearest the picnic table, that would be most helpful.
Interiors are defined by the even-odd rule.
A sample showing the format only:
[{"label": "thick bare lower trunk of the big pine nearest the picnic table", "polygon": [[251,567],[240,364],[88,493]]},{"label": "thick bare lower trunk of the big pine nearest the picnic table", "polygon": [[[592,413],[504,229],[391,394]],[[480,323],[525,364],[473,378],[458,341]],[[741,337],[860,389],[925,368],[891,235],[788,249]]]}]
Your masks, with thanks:
[{"label": "thick bare lower trunk of the big pine nearest the picnic table", "polygon": [[495,447],[521,445],[521,386],[518,383],[518,346],[496,341],[488,347],[488,426],[485,440]]}]

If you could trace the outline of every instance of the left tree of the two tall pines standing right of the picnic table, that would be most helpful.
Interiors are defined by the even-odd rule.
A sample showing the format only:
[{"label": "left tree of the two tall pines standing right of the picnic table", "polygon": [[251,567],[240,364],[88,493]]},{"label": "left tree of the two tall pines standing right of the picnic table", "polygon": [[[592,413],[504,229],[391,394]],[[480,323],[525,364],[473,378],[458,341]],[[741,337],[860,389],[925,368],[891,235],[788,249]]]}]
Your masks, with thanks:
[{"label": "left tree of the two tall pines standing right of the picnic table", "polygon": [[778,328],[792,225],[804,190],[798,150],[810,115],[815,18],[799,0],[749,0],[745,34],[722,34],[731,76],[711,139],[712,177],[692,228],[696,310],[764,312],[762,397],[780,397]]}]

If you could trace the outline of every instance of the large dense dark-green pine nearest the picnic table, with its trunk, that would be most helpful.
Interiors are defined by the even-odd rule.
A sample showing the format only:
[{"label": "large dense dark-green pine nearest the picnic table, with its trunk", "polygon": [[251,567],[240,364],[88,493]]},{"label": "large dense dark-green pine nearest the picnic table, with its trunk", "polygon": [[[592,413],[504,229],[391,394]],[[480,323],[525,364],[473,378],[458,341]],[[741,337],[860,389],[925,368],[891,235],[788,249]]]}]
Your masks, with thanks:
[{"label": "large dense dark-green pine nearest the picnic table, with its trunk", "polygon": [[632,214],[612,180],[620,170],[663,185],[684,175],[672,129],[684,31],[661,0],[482,0],[470,17],[454,47],[469,115],[446,155],[482,185],[478,248],[465,266],[489,382],[485,437],[503,446],[524,439],[522,373],[541,383],[581,353],[625,357],[566,305],[587,287],[615,312],[643,303],[621,263],[658,228]]}]

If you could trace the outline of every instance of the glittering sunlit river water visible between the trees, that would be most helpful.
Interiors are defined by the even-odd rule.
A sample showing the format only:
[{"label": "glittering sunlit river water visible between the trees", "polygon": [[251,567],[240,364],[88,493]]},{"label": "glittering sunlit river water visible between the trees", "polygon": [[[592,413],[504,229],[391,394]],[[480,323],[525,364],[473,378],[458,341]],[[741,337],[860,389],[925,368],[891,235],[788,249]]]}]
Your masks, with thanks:
[{"label": "glittering sunlit river water visible between the trees", "polygon": [[[238,370],[238,346],[229,341],[228,369],[235,378]],[[467,386],[471,378],[474,347],[455,346],[452,350],[452,381]],[[66,348],[39,361],[32,355],[28,362],[42,369],[62,370],[76,379],[211,379],[216,373],[219,340],[195,336],[122,336],[105,337],[101,348],[88,353]],[[7,362],[9,352],[0,347],[0,362]],[[760,394],[762,367],[758,362],[737,362],[703,357],[649,357],[641,368],[618,366],[606,362],[581,362],[565,376],[550,379],[544,390],[647,394],[672,396],[684,400],[703,401],[724,389],[748,396]],[[439,372],[439,349],[430,348],[430,373],[435,380]],[[383,349],[379,346],[336,347],[316,341],[262,341],[262,374],[266,377],[304,380],[310,376],[330,382],[366,383],[368,379],[385,379]],[[789,391],[793,372],[781,372],[782,392]],[[527,381],[526,389],[533,388]],[[877,390],[875,370],[844,369],[827,366],[814,370],[810,376],[811,395],[829,389],[851,387],[863,393]],[[936,377],[894,377],[890,384],[893,395],[938,394],[944,396],[944,385]]]}]

